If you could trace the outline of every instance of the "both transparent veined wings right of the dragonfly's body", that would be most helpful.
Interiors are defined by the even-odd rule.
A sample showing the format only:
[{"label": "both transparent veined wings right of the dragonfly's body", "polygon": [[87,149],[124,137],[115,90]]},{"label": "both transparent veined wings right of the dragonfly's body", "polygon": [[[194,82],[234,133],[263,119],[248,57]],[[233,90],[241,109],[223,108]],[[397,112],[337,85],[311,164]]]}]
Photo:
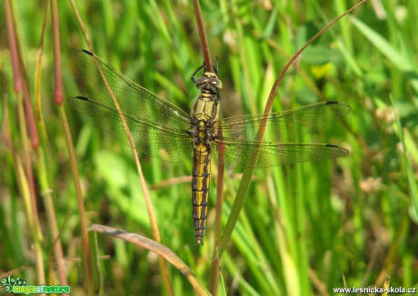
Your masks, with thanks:
[{"label": "both transparent veined wings right of the dragonfly's body", "polygon": [[[273,167],[312,162],[348,154],[342,147],[321,143],[297,143],[307,133],[316,133],[350,113],[348,104],[326,102],[266,115],[264,137],[257,141],[263,114],[244,115],[222,120],[225,165],[230,168]],[[217,124],[216,128],[217,128]],[[256,154],[258,149],[259,154]],[[213,149],[215,157],[216,150]],[[252,164],[251,164],[252,163]]]}]

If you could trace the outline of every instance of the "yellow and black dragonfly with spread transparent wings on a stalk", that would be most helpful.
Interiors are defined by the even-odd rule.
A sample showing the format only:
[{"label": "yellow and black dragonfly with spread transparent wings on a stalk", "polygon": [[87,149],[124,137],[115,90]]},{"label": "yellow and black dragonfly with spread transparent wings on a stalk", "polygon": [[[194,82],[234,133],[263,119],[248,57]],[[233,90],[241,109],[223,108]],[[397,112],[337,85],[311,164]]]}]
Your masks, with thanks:
[{"label": "yellow and black dragonfly with spread transparent wings on a stalk", "polygon": [[[181,163],[193,157],[192,211],[194,242],[203,244],[206,228],[212,157],[218,159],[216,144],[223,148],[226,168],[274,167],[312,162],[348,154],[333,144],[299,143],[304,134],[318,132],[350,113],[349,104],[323,102],[268,114],[220,118],[222,82],[218,74],[206,72],[204,65],[192,76],[200,94],[191,113],[134,84],[95,54],[83,49],[71,52],[75,63],[95,86],[120,105],[121,114],[84,96],[68,98],[76,112],[95,123],[120,142],[132,146],[124,122],[137,151],[168,163]],[[203,74],[196,78],[196,74]],[[215,71],[217,72],[217,71]],[[218,133],[221,125],[222,133]],[[260,138],[259,129],[264,128]],[[260,140],[261,139],[261,140]]]}]

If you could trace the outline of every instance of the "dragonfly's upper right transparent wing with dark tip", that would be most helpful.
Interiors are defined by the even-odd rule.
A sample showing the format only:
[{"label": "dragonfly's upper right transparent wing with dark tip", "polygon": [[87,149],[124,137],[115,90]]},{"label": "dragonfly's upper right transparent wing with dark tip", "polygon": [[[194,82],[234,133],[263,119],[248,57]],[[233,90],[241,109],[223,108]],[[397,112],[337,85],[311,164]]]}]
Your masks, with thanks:
[{"label": "dragonfly's upper right transparent wing with dark tip", "polygon": [[[325,102],[266,115],[264,142],[286,143],[306,133],[315,133],[350,113],[349,104]],[[233,116],[222,120],[223,140],[249,141],[257,139],[263,114]],[[217,125],[217,124],[216,124]]]}]

